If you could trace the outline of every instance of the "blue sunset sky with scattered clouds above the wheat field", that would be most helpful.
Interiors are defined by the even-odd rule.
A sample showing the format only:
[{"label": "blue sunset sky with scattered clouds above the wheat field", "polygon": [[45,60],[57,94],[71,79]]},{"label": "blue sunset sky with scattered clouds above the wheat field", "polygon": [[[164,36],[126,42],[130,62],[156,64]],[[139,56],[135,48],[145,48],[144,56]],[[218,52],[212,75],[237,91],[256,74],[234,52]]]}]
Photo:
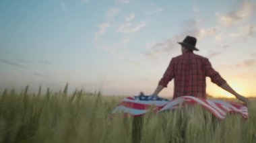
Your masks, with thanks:
[{"label": "blue sunset sky with scattered clouds above the wheat field", "polygon": [[[238,93],[256,97],[256,1],[0,2],[0,91],[151,95],[185,36]],[[207,93],[233,97],[207,78]],[[172,97],[173,81],[159,95]]]}]

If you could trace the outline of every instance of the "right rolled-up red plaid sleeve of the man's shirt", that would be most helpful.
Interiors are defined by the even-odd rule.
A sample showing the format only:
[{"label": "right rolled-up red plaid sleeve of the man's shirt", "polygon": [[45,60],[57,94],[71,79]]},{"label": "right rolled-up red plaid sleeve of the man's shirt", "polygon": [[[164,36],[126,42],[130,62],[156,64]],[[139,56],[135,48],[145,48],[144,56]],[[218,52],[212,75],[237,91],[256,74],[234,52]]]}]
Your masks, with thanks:
[{"label": "right rolled-up red plaid sleeve of the man's shirt", "polygon": [[214,68],[212,68],[212,64],[207,58],[205,60],[205,75],[207,77],[210,77],[212,83],[215,83],[219,87],[226,83],[226,81],[220,76],[220,74],[216,72]]}]

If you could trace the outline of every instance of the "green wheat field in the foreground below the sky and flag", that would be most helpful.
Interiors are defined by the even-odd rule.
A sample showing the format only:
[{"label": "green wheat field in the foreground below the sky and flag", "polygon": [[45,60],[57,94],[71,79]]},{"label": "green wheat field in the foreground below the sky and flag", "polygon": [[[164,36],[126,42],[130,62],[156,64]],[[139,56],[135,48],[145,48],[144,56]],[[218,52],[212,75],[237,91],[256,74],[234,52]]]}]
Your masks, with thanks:
[{"label": "green wheat field in the foreground below the sky and flag", "polygon": [[201,107],[123,117],[109,113],[124,97],[67,93],[1,92],[0,142],[256,142],[256,102],[249,119],[217,120]]}]

